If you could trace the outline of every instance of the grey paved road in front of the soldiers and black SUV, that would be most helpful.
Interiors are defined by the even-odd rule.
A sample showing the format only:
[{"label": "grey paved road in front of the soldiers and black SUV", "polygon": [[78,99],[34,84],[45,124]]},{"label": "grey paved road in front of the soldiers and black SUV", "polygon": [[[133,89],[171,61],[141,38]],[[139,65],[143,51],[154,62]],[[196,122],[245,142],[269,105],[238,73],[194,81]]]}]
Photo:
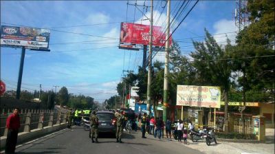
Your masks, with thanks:
[{"label": "grey paved road in front of the soldiers and black SUV", "polygon": [[141,132],[124,132],[122,144],[116,143],[110,134],[100,135],[98,144],[91,143],[88,131],[82,126],[65,129],[17,147],[17,153],[201,153],[176,141],[159,140],[152,135],[141,138]]}]

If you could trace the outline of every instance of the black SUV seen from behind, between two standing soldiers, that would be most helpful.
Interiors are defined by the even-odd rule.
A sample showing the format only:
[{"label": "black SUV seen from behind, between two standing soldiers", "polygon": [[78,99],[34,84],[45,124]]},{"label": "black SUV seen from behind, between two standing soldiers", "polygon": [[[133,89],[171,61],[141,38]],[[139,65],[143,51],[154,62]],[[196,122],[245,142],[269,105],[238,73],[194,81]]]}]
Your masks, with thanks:
[{"label": "black SUV seen from behind, between two standing soldiers", "polygon": [[112,111],[98,111],[96,112],[96,116],[99,120],[98,133],[109,132],[115,134],[115,113],[113,113]]}]

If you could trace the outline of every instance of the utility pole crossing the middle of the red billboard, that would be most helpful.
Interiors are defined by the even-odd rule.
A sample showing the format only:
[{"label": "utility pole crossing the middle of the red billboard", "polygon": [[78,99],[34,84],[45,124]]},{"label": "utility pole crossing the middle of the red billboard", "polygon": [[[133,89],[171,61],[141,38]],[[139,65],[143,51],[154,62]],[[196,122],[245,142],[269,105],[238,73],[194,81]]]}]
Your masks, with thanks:
[{"label": "utility pole crossing the middle of the red billboard", "polygon": [[153,41],[153,0],[151,0],[150,41],[148,55],[148,82],[147,82],[147,111],[150,114],[151,104],[151,67],[152,67],[152,41]]}]

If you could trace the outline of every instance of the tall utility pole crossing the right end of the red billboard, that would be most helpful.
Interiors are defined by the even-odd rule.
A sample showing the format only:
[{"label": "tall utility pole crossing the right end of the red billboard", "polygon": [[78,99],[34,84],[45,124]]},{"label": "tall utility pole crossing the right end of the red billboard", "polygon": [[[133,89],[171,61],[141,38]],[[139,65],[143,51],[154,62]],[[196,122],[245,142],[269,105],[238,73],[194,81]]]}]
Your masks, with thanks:
[{"label": "tall utility pole crossing the right end of the red billboard", "polygon": [[164,64],[164,107],[163,120],[167,119],[168,107],[168,64],[169,64],[169,35],[170,35],[170,0],[167,0],[167,28],[166,28],[166,43],[165,43],[165,64]]}]

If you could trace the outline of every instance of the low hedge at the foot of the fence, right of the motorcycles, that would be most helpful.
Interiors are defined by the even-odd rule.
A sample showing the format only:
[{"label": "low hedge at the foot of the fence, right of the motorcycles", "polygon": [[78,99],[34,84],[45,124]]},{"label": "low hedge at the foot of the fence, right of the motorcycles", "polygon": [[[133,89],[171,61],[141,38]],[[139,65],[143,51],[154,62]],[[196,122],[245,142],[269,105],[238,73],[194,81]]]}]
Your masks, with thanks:
[{"label": "low hedge at the foot of the fence, right of the motorcycles", "polygon": [[215,135],[218,138],[225,138],[225,139],[234,139],[234,140],[256,140],[255,134],[244,134],[244,133],[223,133],[223,132],[216,132]]}]

